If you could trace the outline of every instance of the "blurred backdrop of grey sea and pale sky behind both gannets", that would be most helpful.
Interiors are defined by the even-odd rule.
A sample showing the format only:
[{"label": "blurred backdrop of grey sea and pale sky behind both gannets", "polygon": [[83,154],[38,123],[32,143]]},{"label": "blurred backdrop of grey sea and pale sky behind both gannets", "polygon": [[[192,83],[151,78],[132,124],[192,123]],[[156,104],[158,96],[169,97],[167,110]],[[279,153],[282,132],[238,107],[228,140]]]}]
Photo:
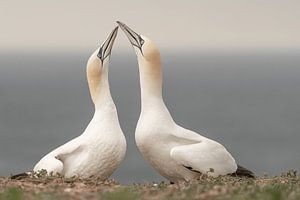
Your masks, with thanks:
[{"label": "blurred backdrop of grey sea and pale sky behind both gannets", "polygon": [[[0,176],[31,170],[93,115],[85,67],[120,20],[160,48],[176,122],[257,175],[300,169],[300,1],[1,1]],[[138,67],[119,31],[111,92],[127,138],[113,178],[164,180],[135,146]]]}]

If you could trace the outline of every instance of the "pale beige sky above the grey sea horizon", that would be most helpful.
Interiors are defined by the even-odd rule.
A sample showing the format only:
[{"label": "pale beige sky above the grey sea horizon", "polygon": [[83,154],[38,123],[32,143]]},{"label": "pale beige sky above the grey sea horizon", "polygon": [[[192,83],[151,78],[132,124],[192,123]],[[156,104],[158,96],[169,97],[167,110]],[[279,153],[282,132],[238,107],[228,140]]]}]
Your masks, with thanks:
[{"label": "pale beige sky above the grey sea horizon", "polygon": [[95,48],[116,20],[167,49],[300,48],[299,0],[1,0],[0,49]]}]

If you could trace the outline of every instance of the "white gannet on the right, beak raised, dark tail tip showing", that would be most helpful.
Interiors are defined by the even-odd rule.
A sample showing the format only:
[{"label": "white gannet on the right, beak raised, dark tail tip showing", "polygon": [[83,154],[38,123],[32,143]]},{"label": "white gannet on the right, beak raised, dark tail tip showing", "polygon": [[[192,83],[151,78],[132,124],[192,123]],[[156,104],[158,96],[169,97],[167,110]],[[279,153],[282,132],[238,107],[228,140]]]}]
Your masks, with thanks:
[{"label": "white gannet on the right, beak raised, dark tail tip showing", "polygon": [[144,158],[171,182],[193,180],[200,174],[253,177],[236,164],[224,146],[177,125],[162,97],[160,53],[147,37],[117,22],[129,38],[138,59],[141,113],[135,131]]}]

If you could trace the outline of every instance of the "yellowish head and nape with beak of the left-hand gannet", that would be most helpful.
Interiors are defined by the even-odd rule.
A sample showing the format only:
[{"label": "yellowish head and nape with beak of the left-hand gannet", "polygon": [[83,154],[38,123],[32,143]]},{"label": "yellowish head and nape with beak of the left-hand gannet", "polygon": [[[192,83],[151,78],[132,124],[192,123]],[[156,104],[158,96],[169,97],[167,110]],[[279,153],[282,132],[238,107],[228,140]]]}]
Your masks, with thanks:
[{"label": "yellowish head and nape with beak of the left-hand gannet", "polygon": [[113,29],[108,38],[94,51],[87,62],[87,79],[94,103],[97,101],[102,86],[108,87],[109,58],[117,33],[118,27]]}]

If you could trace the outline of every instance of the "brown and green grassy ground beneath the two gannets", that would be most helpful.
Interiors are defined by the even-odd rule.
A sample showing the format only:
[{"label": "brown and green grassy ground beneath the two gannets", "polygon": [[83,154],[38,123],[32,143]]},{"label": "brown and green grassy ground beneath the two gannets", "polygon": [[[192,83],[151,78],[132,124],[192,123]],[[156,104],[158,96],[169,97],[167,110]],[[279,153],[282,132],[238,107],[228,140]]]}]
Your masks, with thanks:
[{"label": "brown and green grassy ground beneath the two gannets", "polygon": [[149,183],[129,186],[94,178],[28,177],[0,178],[2,199],[300,199],[296,171],[281,176],[238,178],[202,177],[190,183]]}]

